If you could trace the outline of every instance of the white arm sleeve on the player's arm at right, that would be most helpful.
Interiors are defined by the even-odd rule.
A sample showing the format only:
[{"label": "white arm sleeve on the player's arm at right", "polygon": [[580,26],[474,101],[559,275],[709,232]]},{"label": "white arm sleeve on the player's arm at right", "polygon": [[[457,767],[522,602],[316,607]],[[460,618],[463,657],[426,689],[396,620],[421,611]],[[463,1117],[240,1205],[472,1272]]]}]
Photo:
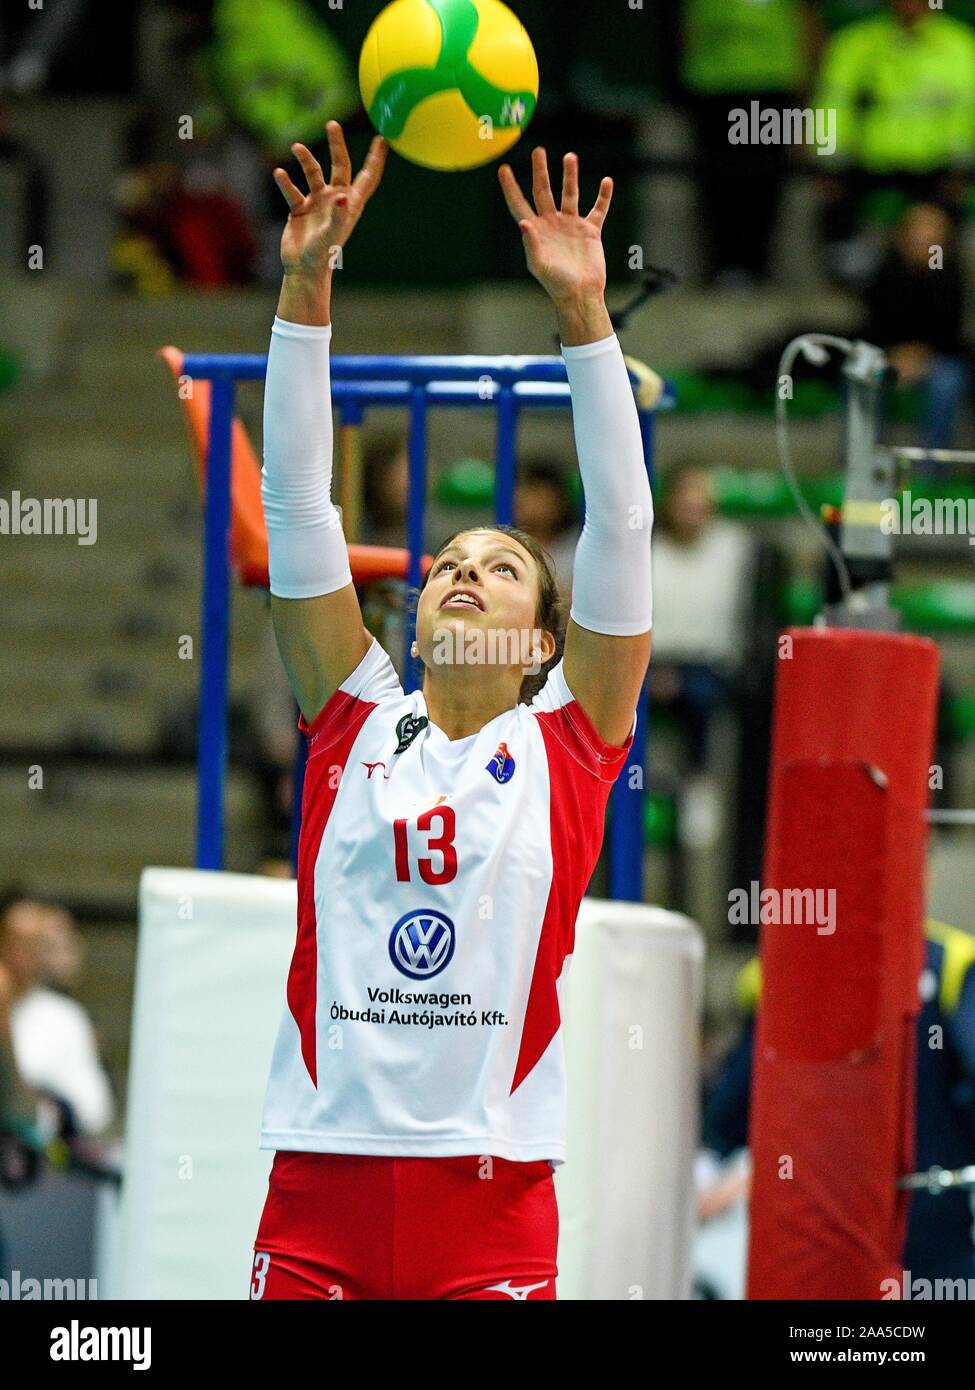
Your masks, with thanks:
[{"label": "white arm sleeve on the player's arm at right", "polygon": [[576,546],[572,617],[590,632],[637,637],[654,620],[650,537],[654,499],[640,417],[615,334],[562,348],[586,493]]}]

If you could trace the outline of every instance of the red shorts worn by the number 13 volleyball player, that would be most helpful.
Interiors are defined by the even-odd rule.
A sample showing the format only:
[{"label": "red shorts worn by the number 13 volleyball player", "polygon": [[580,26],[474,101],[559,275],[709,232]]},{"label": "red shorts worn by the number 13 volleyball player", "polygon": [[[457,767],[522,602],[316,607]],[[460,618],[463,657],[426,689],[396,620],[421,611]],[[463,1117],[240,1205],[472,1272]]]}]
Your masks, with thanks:
[{"label": "red shorts worn by the number 13 volleyball player", "polygon": [[250,1298],[555,1298],[548,1159],[278,1150]]}]

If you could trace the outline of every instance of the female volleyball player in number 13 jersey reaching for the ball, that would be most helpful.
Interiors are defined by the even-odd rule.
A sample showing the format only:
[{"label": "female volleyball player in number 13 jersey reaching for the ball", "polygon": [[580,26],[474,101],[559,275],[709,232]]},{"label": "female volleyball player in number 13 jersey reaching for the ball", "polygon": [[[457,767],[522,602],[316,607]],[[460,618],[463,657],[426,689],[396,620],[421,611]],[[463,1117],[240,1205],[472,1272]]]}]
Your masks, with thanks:
[{"label": "female volleyball player in number 13 jersey reaching for the ball", "polygon": [[563,655],[537,543],[460,531],[421,588],[423,688],[405,695],[363,627],[330,496],[332,247],[387,147],[374,140],[352,181],[337,122],[328,142],[328,183],[300,145],[307,193],[274,175],[291,215],[263,493],[309,760],[250,1297],[554,1298],[562,986],[650,660],[652,502],[604,303],[612,183],[583,215],[574,154],[561,206],[541,149],[534,207],[499,171],[555,304],[586,491]]}]

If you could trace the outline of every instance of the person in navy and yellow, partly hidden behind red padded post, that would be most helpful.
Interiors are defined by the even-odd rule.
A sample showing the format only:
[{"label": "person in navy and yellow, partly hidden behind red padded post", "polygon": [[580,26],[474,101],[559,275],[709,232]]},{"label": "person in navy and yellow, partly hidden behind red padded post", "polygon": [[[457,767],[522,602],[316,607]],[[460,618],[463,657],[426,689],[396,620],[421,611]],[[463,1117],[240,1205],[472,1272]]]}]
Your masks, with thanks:
[{"label": "person in navy and yellow, partly hidden behind red padded post", "polygon": [[[914,1170],[975,1163],[975,935],[943,922],[925,924],[925,962],[918,980]],[[702,1148],[726,1159],[748,1143],[751,1059],[762,972],[754,956],[739,973],[741,1037],[725,1056],[702,1113]],[[712,1163],[714,1166],[714,1163]],[[716,1188],[733,1200],[734,1180]],[[715,1198],[702,1202],[716,1215]],[[972,1194],[961,1188],[911,1194],[904,1268],[922,1279],[975,1280]],[[972,1287],[969,1284],[969,1287]]]}]

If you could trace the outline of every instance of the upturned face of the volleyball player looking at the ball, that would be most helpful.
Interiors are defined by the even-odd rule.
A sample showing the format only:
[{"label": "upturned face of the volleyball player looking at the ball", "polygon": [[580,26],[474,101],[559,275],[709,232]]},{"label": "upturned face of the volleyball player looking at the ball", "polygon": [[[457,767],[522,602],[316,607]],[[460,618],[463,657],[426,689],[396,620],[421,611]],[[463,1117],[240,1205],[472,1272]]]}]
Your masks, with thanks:
[{"label": "upturned face of the volleyball player looking at the ball", "polygon": [[[456,537],[435,557],[417,603],[416,641],[424,666],[458,660],[519,666],[517,656],[531,645],[537,605],[535,562],[513,537],[501,531]],[[524,634],[524,641],[515,642],[515,634]],[[508,662],[508,653],[515,659]]]}]

